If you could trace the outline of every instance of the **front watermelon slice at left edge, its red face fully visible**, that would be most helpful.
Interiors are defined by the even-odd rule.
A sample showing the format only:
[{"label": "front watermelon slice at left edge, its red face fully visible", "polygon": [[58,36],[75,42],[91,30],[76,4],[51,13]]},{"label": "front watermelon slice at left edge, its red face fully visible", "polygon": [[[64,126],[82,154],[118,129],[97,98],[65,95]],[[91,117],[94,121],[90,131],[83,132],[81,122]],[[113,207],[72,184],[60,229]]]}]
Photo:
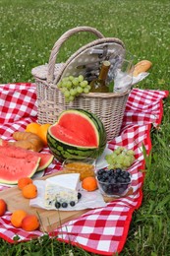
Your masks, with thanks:
[{"label": "front watermelon slice at left edge, its red face fully visible", "polygon": [[22,177],[31,177],[38,165],[40,158],[32,156],[31,159],[16,159],[0,154],[0,182],[17,184]]}]

